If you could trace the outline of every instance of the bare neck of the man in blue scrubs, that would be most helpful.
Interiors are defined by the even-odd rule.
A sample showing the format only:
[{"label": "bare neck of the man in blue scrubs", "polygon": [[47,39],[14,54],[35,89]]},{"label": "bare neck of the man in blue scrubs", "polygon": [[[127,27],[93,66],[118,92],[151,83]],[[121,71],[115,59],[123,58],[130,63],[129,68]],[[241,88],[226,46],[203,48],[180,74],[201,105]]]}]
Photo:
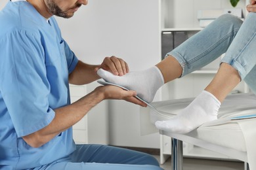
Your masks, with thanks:
[{"label": "bare neck of the man in blue scrubs", "polygon": [[44,18],[48,19],[51,16],[53,16],[53,14],[49,12],[47,6],[45,5],[45,1],[38,1],[38,0],[27,0],[27,1],[28,3],[33,5],[33,7],[35,7],[35,9],[39,12],[39,14],[41,14],[41,16],[43,16]]}]

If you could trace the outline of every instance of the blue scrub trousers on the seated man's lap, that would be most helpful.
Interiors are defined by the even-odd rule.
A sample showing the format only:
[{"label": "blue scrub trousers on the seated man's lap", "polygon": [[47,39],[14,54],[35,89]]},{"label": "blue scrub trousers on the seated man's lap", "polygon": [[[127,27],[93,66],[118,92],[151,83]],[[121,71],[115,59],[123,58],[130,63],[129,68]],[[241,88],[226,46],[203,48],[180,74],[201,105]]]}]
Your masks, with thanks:
[{"label": "blue scrub trousers on the seated man's lap", "polygon": [[57,161],[44,169],[163,170],[149,154],[100,144],[79,144],[69,161]]}]

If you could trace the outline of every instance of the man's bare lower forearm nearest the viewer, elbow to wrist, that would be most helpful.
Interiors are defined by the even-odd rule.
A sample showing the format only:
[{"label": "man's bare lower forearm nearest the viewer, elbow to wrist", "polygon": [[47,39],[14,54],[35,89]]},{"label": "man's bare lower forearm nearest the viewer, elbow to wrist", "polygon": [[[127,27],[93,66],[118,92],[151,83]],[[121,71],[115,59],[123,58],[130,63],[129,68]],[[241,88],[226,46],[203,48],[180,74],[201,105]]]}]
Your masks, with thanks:
[{"label": "man's bare lower forearm nearest the viewer, elbow to wrist", "polygon": [[54,110],[55,116],[53,121],[43,129],[23,137],[24,141],[32,147],[42,146],[43,144],[51,141],[51,139],[62,131],[65,131],[79,122],[79,120],[81,120],[81,118],[83,118],[90,109],[100,103],[103,99],[103,93],[95,90],[75,103],[72,103],[72,105]]}]

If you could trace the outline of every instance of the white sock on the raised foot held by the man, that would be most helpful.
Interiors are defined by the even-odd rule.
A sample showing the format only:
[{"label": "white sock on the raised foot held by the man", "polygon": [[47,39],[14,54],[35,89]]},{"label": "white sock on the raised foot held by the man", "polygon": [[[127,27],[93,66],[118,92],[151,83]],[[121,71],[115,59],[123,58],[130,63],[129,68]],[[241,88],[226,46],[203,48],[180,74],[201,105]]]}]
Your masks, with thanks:
[{"label": "white sock on the raised foot held by the man", "polygon": [[135,90],[137,95],[148,103],[153,101],[156,92],[164,84],[163,75],[156,66],[144,71],[131,71],[123,76],[113,75],[103,69],[98,69],[97,74],[106,82]]}]

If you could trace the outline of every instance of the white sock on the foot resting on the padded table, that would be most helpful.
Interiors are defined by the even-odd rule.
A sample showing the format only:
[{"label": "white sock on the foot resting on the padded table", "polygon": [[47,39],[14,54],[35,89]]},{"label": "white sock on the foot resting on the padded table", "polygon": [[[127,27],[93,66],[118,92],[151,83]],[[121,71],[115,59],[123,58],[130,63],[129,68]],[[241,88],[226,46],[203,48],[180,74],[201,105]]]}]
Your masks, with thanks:
[{"label": "white sock on the foot resting on the padded table", "polygon": [[156,127],[173,133],[188,133],[205,122],[217,120],[221,102],[211,93],[203,91],[171,120],[157,121]]}]

